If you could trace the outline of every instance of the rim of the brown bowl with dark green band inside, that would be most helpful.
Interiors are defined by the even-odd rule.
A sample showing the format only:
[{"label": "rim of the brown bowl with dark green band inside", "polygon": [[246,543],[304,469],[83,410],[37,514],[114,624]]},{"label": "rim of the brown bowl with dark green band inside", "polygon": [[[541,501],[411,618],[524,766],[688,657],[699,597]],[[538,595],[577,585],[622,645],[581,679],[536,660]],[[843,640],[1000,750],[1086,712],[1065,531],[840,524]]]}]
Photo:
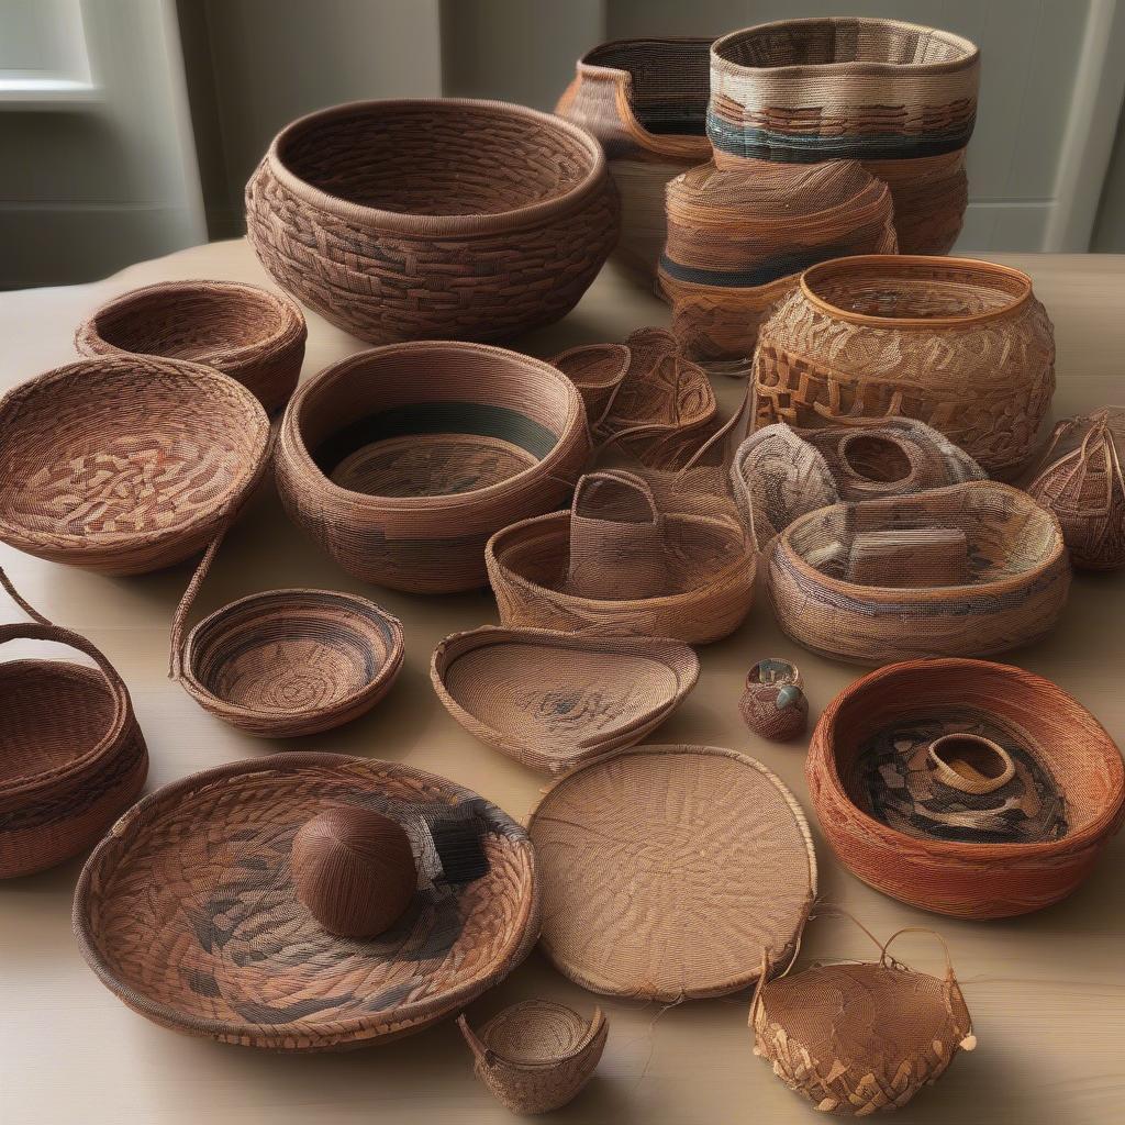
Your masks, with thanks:
[{"label": "rim of the brown bowl with dark green band inside", "polygon": [[[536,372],[554,380],[564,390],[567,396],[567,416],[560,426],[561,432],[558,439],[544,457],[537,460],[533,465],[529,465],[525,469],[521,469],[519,472],[514,472],[503,480],[486,485],[484,488],[472,488],[469,492],[462,493],[440,493],[434,496],[377,496],[371,493],[353,492],[350,488],[338,485],[321,470],[308,451],[308,447],[305,444],[303,432],[303,418],[300,415],[306,410],[309,399],[331,389],[338,382],[354,376],[366,366],[378,366],[384,359],[393,356],[432,352],[436,358],[443,353],[456,354],[457,352],[465,351],[492,357],[495,360],[513,366],[521,366],[526,372]],[[466,393],[472,395],[475,388],[466,387]],[[385,512],[422,511],[432,515],[444,511],[457,511],[472,506],[478,502],[488,502],[497,497],[502,498],[508,493],[522,490],[523,485],[528,480],[549,474],[550,469],[568,456],[568,439],[579,423],[588,432],[586,407],[583,404],[582,394],[570,379],[546,360],[524,356],[522,352],[511,351],[506,348],[497,348],[494,344],[458,340],[403,340],[397,343],[381,344],[376,348],[368,348],[364,351],[354,352],[342,360],[338,360],[335,363],[330,363],[307,382],[302,384],[286,407],[280,429],[282,442],[279,444],[284,444],[287,448],[285,456],[296,462],[296,472],[306,482],[315,482],[318,488],[324,489],[332,497],[351,503],[360,508],[378,508]]]}]

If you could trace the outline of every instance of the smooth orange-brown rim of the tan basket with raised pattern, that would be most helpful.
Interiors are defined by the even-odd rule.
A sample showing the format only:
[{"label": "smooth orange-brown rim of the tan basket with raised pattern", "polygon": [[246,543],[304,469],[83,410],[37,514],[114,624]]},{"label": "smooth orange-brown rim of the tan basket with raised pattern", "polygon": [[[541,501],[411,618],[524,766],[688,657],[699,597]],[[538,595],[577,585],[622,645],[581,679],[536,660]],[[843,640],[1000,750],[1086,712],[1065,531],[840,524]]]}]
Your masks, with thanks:
[{"label": "smooth orange-brown rim of the tan basket with raised pattern", "polygon": [[[1007,278],[1020,286],[1018,296],[1000,308],[966,316],[873,316],[868,313],[853,313],[826,300],[813,286],[825,273],[852,273],[856,270],[878,267],[890,278],[909,277],[911,270],[964,270],[966,273],[991,273],[996,278]],[[835,321],[862,324],[873,328],[963,328],[983,324],[1000,316],[1010,316],[1034,299],[1030,277],[1014,266],[1001,266],[978,258],[951,258],[929,254],[852,254],[847,258],[829,258],[810,266],[801,274],[801,296],[816,309]]]}]

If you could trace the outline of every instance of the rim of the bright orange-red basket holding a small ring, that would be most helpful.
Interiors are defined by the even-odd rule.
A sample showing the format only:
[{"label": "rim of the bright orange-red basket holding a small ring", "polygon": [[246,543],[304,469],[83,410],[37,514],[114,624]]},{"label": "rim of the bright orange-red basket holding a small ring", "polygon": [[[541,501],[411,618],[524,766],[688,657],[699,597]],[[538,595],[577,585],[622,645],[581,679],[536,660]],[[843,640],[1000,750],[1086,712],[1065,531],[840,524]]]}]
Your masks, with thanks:
[{"label": "rim of the bright orange-red basket holding a small ring", "polygon": [[[1099,742],[1104,752],[1110,748],[1115,754],[1104,753],[1104,757],[1109,765],[1113,775],[1113,793],[1105,803],[1102,810],[1088,825],[1056,840],[1040,840],[1037,843],[1025,844],[971,844],[958,840],[919,839],[916,836],[908,836],[900,832],[882,820],[876,819],[868,812],[861,809],[847,794],[844,782],[840,778],[839,770],[836,765],[836,755],[829,753],[829,728],[835,723],[836,716],[845,703],[849,703],[856,696],[868,691],[878,691],[884,687],[883,681],[892,681],[903,673],[912,674],[922,668],[933,673],[972,670],[978,676],[991,676],[996,680],[1024,680],[1036,691],[1052,695],[1054,700],[1064,702],[1081,712],[1090,724],[1090,732],[1099,737]],[[819,766],[819,770],[817,768]],[[1113,736],[1098,719],[1084,708],[1070,692],[1064,691],[1059,684],[1037,673],[1028,672],[1014,664],[1001,664],[996,660],[982,660],[976,657],[943,656],[927,657],[917,660],[898,660],[893,664],[883,665],[866,675],[860,676],[848,684],[843,691],[831,700],[821,712],[820,719],[812,731],[809,742],[809,756],[806,759],[804,775],[808,781],[810,792],[813,794],[813,808],[820,817],[822,798],[817,794],[817,785],[828,789],[834,802],[846,804],[849,810],[860,818],[866,835],[874,837],[882,847],[893,848],[900,852],[903,848],[910,850],[924,850],[927,855],[950,861],[954,863],[978,863],[982,860],[1042,860],[1048,856],[1063,856],[1071,853],[1081,852],[1091,845],[1099,844],[1112,831],[1114,825],[1120,817],[1125,807],[1125,762],[1114,741]],[[835,826],[834,826],[835,827]],[[845,829],[847,831],[847,829]]]}]

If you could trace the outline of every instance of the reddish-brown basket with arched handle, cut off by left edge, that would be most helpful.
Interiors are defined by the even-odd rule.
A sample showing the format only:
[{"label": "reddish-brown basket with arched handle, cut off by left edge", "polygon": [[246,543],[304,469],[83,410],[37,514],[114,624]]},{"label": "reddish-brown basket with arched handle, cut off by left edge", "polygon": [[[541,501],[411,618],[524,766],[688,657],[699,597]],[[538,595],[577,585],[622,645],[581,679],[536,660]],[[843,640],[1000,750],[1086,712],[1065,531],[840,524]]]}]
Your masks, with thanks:
[{"label": "reddish-brown basket with arched handle, cut off by left edge", "polygon": [[0,585],[34,620],[0,626],[0,645],[54,641],[97,665],[0,664],[0,879],[12,879],[90,847],[141,792],[148,750],[106,657],[28,605],[3,570]]}]

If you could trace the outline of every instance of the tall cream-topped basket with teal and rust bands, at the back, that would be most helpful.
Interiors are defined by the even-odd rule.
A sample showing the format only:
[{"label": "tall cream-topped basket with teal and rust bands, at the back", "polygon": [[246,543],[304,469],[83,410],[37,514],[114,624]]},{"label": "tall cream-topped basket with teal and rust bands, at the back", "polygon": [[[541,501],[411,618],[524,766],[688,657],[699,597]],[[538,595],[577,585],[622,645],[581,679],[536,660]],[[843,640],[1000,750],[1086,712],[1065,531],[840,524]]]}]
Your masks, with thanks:
[{"label": "tall cream-topped basket with teal and rust bands, at the back", "polygon": [[893,19],[791,19],[711,48],[708,135],[722,163],[861,160],[894,200],[899,249],[944,254],[961,232],[980,52]]}]

